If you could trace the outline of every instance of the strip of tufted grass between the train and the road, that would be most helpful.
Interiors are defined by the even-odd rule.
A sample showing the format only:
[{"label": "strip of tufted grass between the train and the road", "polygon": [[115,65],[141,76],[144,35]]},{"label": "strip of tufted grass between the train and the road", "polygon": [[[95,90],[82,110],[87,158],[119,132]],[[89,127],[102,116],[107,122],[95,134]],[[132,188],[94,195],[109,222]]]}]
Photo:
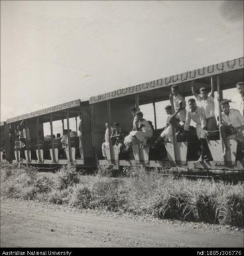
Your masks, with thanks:
[{"label": "strip of tufted grass between the train and the road", "polygon": [[107,209],[160,219],[201,221],[243,227],[243,183],[164,177],[144,168],[116,177],[115,170],[80,176],[74,168],[44,175],[32,168],[1,168],[1,195],[70,205],[79,209]]}]

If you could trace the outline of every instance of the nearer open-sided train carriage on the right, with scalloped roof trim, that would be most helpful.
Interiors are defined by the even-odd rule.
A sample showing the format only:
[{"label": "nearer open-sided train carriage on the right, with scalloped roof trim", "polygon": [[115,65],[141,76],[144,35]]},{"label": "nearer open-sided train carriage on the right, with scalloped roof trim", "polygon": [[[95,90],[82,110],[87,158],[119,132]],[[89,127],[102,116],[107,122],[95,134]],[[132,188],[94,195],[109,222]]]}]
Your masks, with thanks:
[{"label": "nearer open-sided train carriage on the right, with scalloped roof trim", "polygon": [[[201,86],[210,88],[211,84],[214,83],[218,98],[218,104],[217,106],[215,104],[215,108],[218,108],[219,113],[219,102],[223,98],[223,90],[235,88],[237,82],[243,81],[243,67],[243,58],[239,58],[91,97],[92,142],[99,164],[119,166],[144,164],[151,167],[188,166],[191,169],[200,168],[203,170],[243,170],[242,159],[237,159],[237,139],[235,136],[228,138],[231,154],[224,161],[223,145],[219,132],[216,132],[215,136],[208,137],[208,146],[213,160],[197,165],[199,142],[194,142],[194,140],[177,141],[175,134],[173,143],[165,145],[166,155],[160,154],[163,152],[155,152],[150,145],[141,148],[139,144],[135,144],[133,146],[133,160],[131,160],[132,158],[125,159],[119,154],[117,146],[113,146],[111,142],[107,146],[107,160],[104,160],[101,154],[106,122],[109,124],[119,122],[124,132],[130,132],[133,126],[131,106],[140,107],[145,104],[153,104],[154,125],[156,126],[155,103],[168,100],[170,87],[174,84],[178,84],[179,90],[184,96],[192,96],[192,81],[196,84],[196,90]],[[164,113],[164,109],[160,112]],[[192,132],[194,134],[194,129]],[[154,140],[159,134],[160,130],[156,129]]]}]

